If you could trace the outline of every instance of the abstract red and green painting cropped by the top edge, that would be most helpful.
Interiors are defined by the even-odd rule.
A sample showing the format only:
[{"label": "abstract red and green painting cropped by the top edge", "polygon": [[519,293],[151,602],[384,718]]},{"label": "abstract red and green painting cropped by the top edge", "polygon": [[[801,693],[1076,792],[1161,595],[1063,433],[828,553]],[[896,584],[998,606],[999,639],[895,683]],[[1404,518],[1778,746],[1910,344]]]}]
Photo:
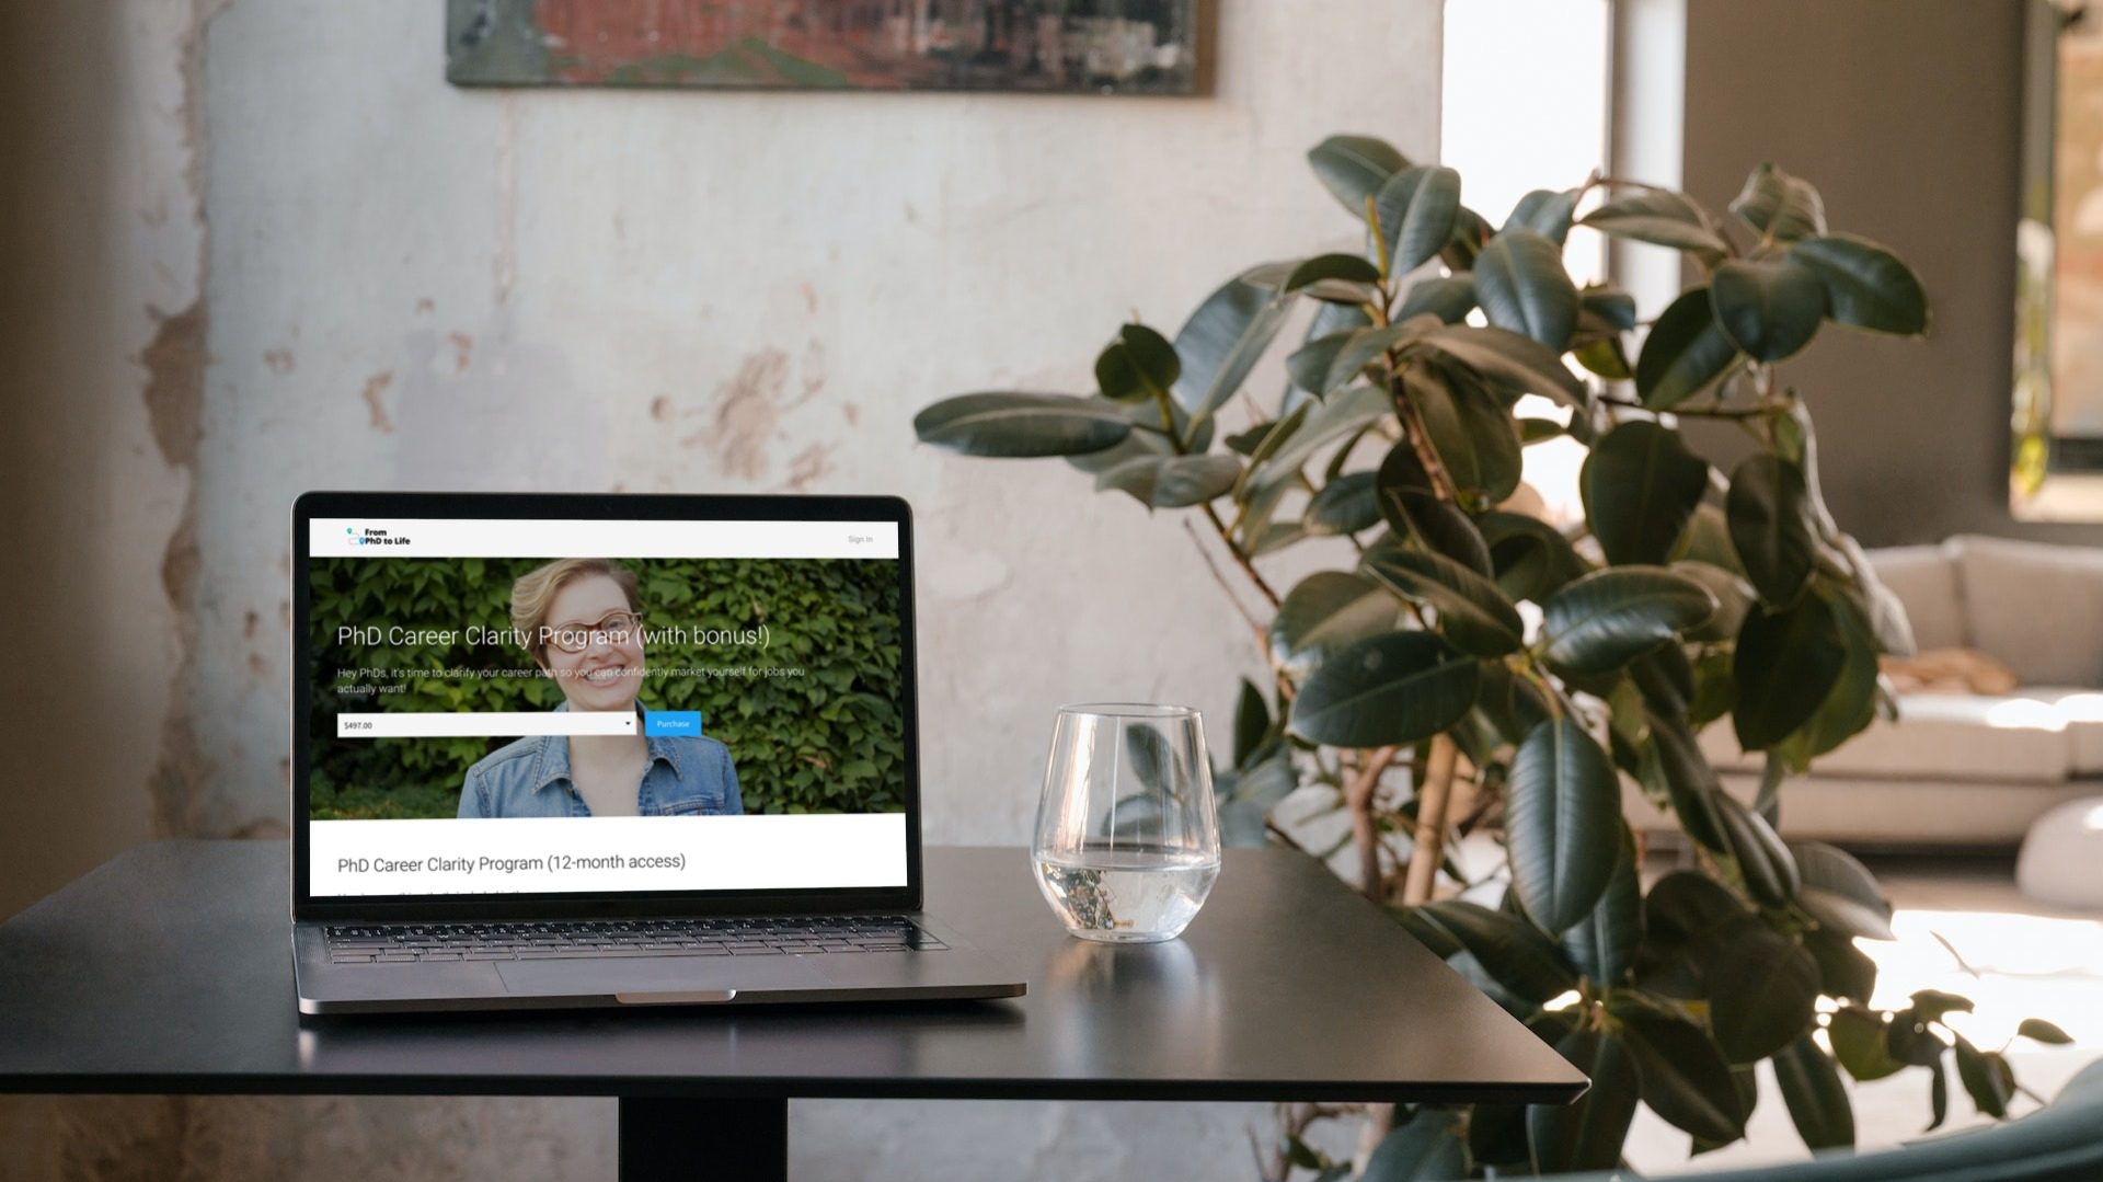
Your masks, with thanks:
[{"label": "abstract red and green painting cropped by the top edge", "polygon": [[1197,93],[1201,0],[448,0],[461,86]]}]

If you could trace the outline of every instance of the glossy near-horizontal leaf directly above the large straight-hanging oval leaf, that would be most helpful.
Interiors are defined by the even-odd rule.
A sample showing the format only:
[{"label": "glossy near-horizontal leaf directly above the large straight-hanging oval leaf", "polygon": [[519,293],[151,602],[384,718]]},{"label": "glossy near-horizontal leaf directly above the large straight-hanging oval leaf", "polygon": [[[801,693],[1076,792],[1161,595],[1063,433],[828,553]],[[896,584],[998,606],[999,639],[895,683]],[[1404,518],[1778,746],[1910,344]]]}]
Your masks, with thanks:
[{"label": "glossy near-horizontal leaf directly above the large straight-hanging oval leaf", "polygon": [[1714,612],[1706,587],[1661,566],[1594,570],[1541,606],[1541,658],[1560,671],[1611,673]]}]

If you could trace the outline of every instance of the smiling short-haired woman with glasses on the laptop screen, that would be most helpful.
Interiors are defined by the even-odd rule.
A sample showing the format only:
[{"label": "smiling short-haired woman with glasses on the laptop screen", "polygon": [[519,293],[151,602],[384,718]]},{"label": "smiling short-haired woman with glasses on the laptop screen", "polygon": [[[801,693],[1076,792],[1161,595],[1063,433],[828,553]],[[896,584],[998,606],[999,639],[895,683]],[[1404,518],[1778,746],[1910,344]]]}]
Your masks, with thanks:
[{"label": "smiling short-haired woman with glasses on the laptop screen", "polygon": [[557,711],[629,711],[635,734],[547,734],[498,747],[461,784],[461,816],[742,814],[730,749],[707,736],[646,736],[644,623],[635,572],[566,557],[511,585],[511,625],[562,688]]}]

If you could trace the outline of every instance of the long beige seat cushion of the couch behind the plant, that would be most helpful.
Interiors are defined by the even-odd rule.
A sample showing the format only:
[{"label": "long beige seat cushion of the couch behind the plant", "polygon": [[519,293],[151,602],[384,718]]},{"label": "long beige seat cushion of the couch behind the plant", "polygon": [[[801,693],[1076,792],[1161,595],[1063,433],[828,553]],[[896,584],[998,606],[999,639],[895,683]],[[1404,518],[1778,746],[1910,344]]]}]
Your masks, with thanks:
[{"label": "long beige seat cushion of the couch behind the plant", "polygon": [[[2103,707],[2103,700],[2097,702]],[[2103,730],[2097,734],[2103,755]],[[1701,749],[1722,770],[1758,772],[1762,755],[1748,757],[1727,724],[1701,732]],[[1813,776],[1872,776],[1916,780],[2059,782],[2074,774],[2074,738],[2059,707],[2048,700],[1971,694],[1903,694],[1899,721],[1870,730],[1811,763]]]}]

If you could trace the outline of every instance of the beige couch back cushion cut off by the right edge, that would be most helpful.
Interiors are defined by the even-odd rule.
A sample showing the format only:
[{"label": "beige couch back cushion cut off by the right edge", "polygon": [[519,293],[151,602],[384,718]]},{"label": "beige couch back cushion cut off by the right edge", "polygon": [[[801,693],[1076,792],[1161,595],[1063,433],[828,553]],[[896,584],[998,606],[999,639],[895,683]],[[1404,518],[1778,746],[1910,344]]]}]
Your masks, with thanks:
[{"label": "beige couch back cushion cut off by the right edge", "polygon": [[2103,549],[1962,536],[1968,644],[2025,686],[2103,686]]}]

